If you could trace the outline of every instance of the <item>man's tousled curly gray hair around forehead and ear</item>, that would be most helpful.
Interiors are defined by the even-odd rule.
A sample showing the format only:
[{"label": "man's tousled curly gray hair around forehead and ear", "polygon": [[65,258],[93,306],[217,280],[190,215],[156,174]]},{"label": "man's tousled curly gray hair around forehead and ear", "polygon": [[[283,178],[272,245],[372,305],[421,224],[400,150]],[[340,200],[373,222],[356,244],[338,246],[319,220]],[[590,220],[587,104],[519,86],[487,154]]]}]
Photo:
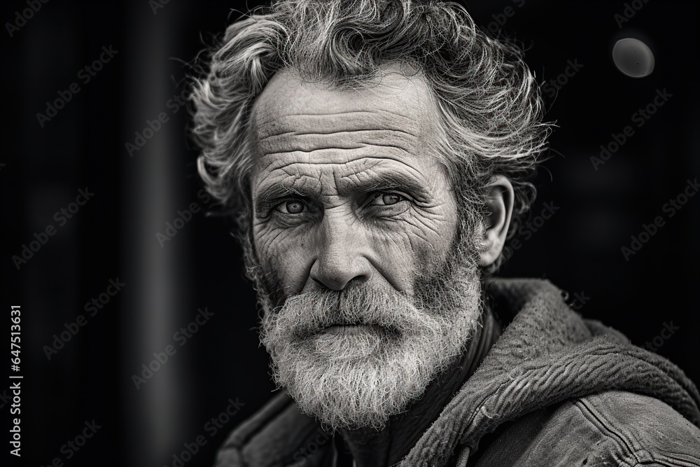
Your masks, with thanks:
[{"label": "man's tousled curly gray hair around forehead and ear", "polygon": [[279,0],[226,29],[191,95],[200,176],[237,215],[241,237],[251,211],[251,110],[269,79],[292,69],[307,82],[358,88],[375,83],[386,62],[416,70],[432,92],[439,157],[461,211],[483,207],[484,188],[502,174],[514,188],[509,237],[517,231],[535,198],[529,180],[551,127],[517,45],[486,36],[455,3]]}]

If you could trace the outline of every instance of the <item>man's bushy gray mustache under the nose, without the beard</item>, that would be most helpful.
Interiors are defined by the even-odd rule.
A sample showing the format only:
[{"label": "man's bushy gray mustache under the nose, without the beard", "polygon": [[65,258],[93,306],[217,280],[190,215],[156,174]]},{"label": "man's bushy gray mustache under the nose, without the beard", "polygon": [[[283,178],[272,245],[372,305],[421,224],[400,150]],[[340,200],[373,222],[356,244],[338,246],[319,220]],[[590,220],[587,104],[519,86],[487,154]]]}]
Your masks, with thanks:
[{"label": "man's bushy gray mustache under the nose, without the beard", "polygon": [[342,291],[290,294],[284,305],[263,317],[262,330],[287,328],[304,339],[330,326],[372,326],[400,335],[415,329],[416,312],[404,293],[358,285]]}]

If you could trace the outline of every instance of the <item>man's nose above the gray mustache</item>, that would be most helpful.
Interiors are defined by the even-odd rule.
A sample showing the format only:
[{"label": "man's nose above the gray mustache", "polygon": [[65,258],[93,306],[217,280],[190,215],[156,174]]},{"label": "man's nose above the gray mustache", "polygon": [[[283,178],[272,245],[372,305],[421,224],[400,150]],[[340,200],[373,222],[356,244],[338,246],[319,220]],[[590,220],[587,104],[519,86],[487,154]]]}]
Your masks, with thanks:
[{"label": "man's nose above the gray mustache", "polygon": [[370,278],[369,242],[345,216],[324,216],[316,237],[316,259],[309,276],[316,285],[342,291],[350,282]]}]

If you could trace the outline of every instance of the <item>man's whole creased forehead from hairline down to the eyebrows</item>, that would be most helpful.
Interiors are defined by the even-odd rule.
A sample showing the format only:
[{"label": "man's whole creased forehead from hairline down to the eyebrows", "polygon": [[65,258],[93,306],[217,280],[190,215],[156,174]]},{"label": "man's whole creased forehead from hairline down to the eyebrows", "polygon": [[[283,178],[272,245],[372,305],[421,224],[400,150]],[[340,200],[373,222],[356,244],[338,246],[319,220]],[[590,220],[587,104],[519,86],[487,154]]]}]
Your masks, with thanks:
[{"label": "man's whole creased forehead from hairline down to the eyebrows", "polygon": [[398,85],[387,74],[381,89],[346,92],[311,83],[285,86],[278,72],[253,106],[251,136],[257,157],[252,175],[258,179],[253,183],[259,187],[290,161],[337,165],[379,155],[412,167],[412,175],[431,186],[413,166],[417,159],[434,158],[430,137],[437,109],[421,80],[395,75],[402,81]]}]

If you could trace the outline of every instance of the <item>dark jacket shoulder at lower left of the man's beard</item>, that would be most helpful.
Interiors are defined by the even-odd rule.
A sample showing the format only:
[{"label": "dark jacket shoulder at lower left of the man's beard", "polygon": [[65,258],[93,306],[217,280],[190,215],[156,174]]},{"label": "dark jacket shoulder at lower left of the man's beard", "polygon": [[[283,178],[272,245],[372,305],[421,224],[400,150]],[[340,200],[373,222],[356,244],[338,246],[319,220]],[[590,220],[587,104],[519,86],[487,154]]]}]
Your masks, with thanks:
[{"label": "dark jacket shoulder at lower left of the man's beard", "polygon": [[216,467],[321,465],[330,440],[332,435],[280,393],[230,433]]}]

